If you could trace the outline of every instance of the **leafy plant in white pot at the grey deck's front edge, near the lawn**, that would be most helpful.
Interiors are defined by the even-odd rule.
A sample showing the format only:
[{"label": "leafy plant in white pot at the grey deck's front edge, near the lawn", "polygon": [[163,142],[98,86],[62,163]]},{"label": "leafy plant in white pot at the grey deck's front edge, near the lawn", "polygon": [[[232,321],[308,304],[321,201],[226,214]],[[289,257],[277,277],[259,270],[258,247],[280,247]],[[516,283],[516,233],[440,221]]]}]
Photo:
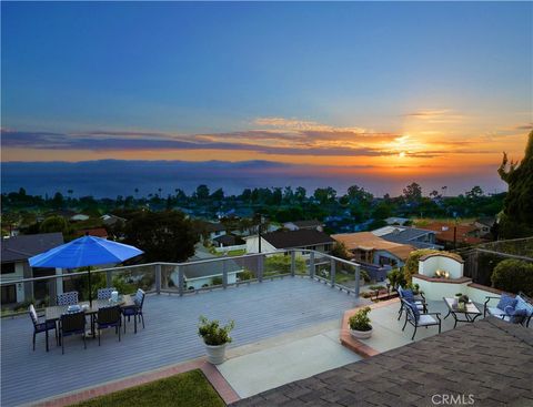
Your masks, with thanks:
[{"label": "leafy plant in white pot at the grey deck's front edge, near the lawn", "polygon": [[198,335],[202,337],[208,353],[208,362],[213,365],[220,365],[225,358],[225,347],[231,342],[230,332],[234,328],[233,320],[228,322],[225,326],[220,326],[217,319],[209,320],[205,316],[200,316]]}]

